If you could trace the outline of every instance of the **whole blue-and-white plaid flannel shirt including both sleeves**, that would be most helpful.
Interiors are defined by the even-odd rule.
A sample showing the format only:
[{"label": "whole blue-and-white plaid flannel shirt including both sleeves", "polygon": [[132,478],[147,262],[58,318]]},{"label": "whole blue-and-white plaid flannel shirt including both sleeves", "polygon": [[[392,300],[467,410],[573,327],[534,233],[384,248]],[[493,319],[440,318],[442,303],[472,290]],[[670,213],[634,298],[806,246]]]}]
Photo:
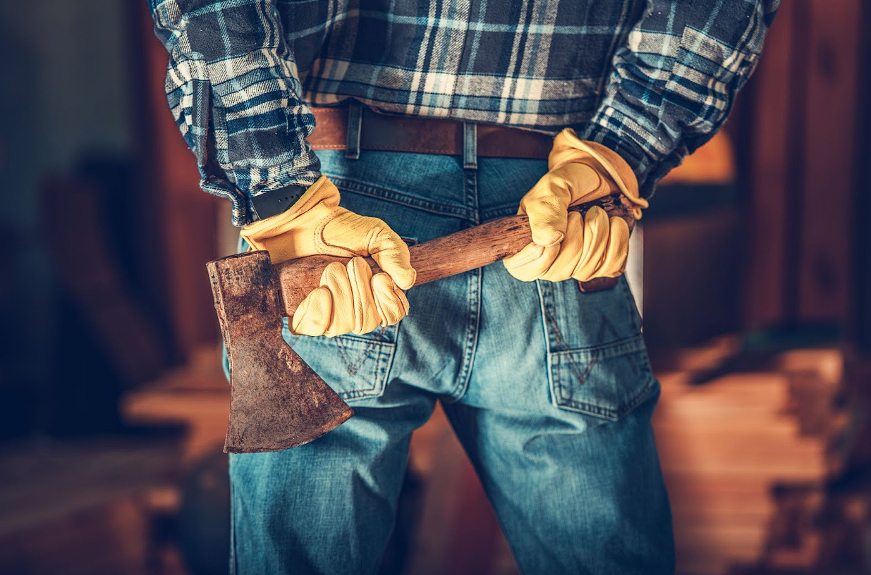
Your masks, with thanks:
[{"label": "whole blue-and-white plaid flannel shirt including both sleeves", "polygon": [[[309,105],[580,137],[616,150],[642,194],[725,121],[780,0],[149,0],[166,96],[203,190],[308,185]],[[388,10],[389,6],[389,10]]]}]

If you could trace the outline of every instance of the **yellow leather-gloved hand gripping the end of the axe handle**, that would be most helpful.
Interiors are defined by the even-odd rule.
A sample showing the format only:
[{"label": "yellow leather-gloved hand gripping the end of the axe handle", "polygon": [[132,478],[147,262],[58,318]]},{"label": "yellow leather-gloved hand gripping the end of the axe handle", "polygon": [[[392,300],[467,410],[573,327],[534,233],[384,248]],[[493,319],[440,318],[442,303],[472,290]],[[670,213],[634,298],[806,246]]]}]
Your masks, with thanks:
[{"label": "yellow leather-gloved hand gripping the end of the axe handle", "polygon": [[594,206],[581,216],[569,206],[585,204],[619,191],[633,205],[636,219],[647,200],[638,197],[638,182],[629,164],[602,144],[585,142],[566,128],[554,138],[548,173],[520,201],[518,214],[530,217],[532,242],[503,259],[508,272],[524,282],[559,282],[573,277],[617,277],[629,253],[629,226]]}]

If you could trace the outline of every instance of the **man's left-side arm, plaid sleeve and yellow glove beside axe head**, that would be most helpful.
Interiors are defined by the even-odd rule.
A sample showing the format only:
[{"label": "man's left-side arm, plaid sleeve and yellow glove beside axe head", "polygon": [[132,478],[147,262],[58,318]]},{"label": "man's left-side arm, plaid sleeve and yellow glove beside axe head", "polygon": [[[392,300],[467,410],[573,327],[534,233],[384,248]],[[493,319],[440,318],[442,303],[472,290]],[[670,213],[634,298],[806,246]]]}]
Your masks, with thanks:
[{"label": "man's left-side arm, plaid sleeve and yellow glove beside axe head", "polygon": [[[149,0],[155,31],[170,53],[166,97],[197,157],[203,190],[233,202],[233,224],[273,264],[327,254],[321,287],[300,304],[294,333],[337,336],[395,324],[415,283],[408,246],[387,224],[339,206],[306,141],[314,116],[302,104],[296,65],[275,0]],[[285,191],[287,210],[252,224],[251,198]],[[260,215],[260,214],[258,214]],[[246,225],[247,224],[247,225]],[[373,275],[371,255],[384,270]]]}]

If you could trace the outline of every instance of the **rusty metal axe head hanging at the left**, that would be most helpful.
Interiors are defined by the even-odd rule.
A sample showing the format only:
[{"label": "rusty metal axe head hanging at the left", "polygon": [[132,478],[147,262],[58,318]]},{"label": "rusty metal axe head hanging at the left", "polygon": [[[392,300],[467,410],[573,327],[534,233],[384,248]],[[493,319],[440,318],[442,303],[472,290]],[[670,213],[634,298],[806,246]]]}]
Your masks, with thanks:
[{"label": "rusty metal axe head hanging at the left", "polygon": [[266,251],[206,264],[230,364],[224,451],[279,451],[320,438],[354,411],[281,338],[285,308]]}]

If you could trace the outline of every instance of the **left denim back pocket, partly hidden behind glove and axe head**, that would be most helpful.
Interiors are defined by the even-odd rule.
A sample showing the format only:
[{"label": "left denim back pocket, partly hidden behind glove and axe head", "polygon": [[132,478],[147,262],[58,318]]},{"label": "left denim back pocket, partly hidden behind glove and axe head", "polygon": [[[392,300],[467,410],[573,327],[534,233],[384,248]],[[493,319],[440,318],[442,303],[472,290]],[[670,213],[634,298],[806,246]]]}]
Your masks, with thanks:
[{"label": "left denim back pocket, partly hidden behind glove and axe head", "polygon": [[342,399],[375,398],[384,393],[396,351],[395,325],[361,336],[311,338],[292,334],[286,321],[282,335]]}]

